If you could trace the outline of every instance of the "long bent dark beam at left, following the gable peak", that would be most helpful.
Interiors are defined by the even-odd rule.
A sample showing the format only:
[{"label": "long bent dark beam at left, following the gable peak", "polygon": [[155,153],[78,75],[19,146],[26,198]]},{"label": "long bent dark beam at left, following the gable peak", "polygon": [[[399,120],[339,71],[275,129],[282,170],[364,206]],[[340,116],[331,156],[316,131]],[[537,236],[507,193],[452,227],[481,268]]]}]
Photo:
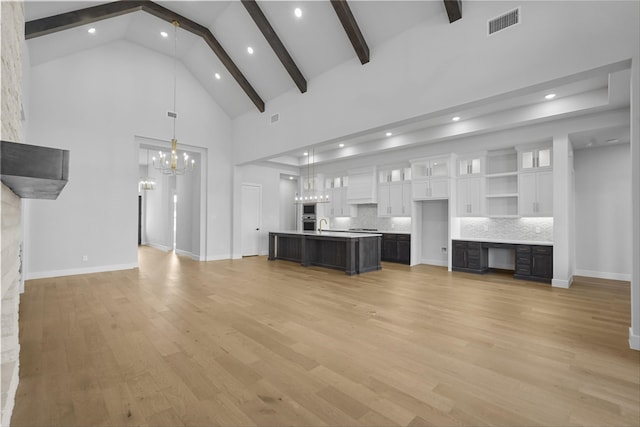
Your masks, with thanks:
[{"label": "long bent dark beam at left, following the gable peak", "polygon": [[69,28],[90,24],[92,22],[113,18],[115,16],[139,10],[147,12],[167,22],[178,21],[182,29],[202,37],[213,53],[216,54],[220,62],[222,62],[236,82],[238,82],[240,87],[255,104],[258,110],[260,110],[260,112],[264,112],[264,101],[262,98],[260,98],[253,86],[251,86],[249,81],[244,77],[240,69],[236,66],[231,57],[229,57],[222,45],[218,40],[216,40],[207,27],[152,1],[116,1],[29,21],[25,23],[25,38],[28,40],[34,37],[52,34],[58,31],[67,30]]}]

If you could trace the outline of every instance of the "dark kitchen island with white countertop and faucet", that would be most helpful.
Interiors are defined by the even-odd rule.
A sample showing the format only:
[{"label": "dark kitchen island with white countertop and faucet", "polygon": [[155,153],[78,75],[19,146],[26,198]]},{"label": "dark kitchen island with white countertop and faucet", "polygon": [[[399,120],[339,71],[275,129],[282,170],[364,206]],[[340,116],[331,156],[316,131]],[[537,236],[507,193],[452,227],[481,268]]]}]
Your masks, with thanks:
[{"label": "dark kitchen island with white countertop and faucet", "polygon": [[331,231],[269,232],[269,260],[343,270],[349,275],[380,270],[382,235]]}]

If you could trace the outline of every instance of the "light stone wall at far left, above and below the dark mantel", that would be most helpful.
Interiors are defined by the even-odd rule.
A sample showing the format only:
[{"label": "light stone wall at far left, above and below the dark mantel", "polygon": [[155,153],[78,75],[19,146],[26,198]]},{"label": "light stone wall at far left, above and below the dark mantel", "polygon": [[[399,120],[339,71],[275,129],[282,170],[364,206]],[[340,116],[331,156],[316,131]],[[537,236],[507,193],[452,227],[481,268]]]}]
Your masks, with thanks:
[{"label": "light stone wall at far left, above and below the dark mantel", "polygon": [[[2,140],[21,142],[22,135],[22,47],[24,11],[21,1],[2,1],[0,7],[2,69]],[[20,345],[18,304],[20,302],[20,245],[22,242],[21,201],[2,184],[0,193],[0,277],[2,278],[2,425],[9,425],[16,390]]]}]

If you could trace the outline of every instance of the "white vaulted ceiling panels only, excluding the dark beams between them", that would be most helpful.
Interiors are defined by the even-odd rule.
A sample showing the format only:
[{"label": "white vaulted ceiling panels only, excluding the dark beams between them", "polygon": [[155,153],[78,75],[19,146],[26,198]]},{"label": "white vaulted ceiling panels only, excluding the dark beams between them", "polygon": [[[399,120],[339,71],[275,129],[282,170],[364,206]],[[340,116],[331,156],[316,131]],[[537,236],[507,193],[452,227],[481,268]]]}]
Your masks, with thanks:
[{"label": "white vaulted ceiling panels only, excluding the dark beams between them", "polygon": [[[107,2],[25,2],[25,20],[44,18]],[[239,1],[157,1],[205,27],[229,54],[265,103],[291,89],[297,90],[279,59]],[[351,1],[351,10],[371,52],[376,46],[425,20],[448,22],[441,1]],[[356,53],[330,2],[260,1],[260,8],[296,62],[307,82],[349,60]],[[294,16],[300,7],[301,18]],[[92,35],[87,30],[93,27]],[[160,36],[169,33],[168,38]],[[125,39],[173,56],[173,26],[145,12],[135,12],[28,41],[32,65],[84,49]],[[235,118],[256,107],[204,41],[178,29],[176,55],[215,101]],[[247,47],[254,54],[247,53]],[[372,55],[373,56],[373,55]],[[219,73],[221,79],[214,78]]]}]

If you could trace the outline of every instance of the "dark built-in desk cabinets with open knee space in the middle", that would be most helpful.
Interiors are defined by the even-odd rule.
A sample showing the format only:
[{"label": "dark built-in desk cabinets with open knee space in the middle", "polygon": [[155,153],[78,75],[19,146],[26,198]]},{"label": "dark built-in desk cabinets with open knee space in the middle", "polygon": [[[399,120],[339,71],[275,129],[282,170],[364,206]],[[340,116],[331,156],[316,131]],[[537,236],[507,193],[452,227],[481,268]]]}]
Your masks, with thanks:
[{"label": "dark built-in desk cabinets with open knee space in the middle", "polygon": [[509,249],[515,252],[516,279],[551,283],[553,278],[553,245],[521,244],[475,240],[453,240],[451,269],[469,273],[486,273],[489,269],[489,249]]}]

